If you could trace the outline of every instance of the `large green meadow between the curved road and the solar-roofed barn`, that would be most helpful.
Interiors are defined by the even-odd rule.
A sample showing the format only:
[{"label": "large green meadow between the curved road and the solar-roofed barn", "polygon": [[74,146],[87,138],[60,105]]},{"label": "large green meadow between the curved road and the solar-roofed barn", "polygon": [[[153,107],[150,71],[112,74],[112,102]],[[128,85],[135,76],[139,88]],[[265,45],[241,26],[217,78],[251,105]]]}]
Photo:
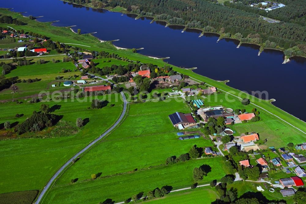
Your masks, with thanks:
[{"label": "large green meadow between the curved road and the solar-roofed barn", "polygon": [[[187,153],[192,145],[213,146],[211,140],[204,138],[178,140],[177,130],[170,131],[173,126],[168,115],[178,109],[184,109],[185,105],[172,100],[168,104],[167,112],[160,112],[159,108],[162,105],[165,105],[164,102],[131,104],[129,114],[121,126],[69,168],[58,179],[57,184],[70,183],[70,180],[74,178],[78,178],[80,181],[90,179],[92,173],[102,172],[101,176],[108,176],[134,169],[141,170],[165,164],[167,157],[174,155],[178,157]],[[147,115],[147,112],[133,115],[136,110],[145,109],[151,111],[150,116]],[[151,119],[155,124],[152,124]],[[139,123],[138,126],[136,123]],[[132,134],[133,130],[136,135]],[[167,130],[168,132],[164,132]],[[139,144],[141,144],[141,148],[138,147]],[[112,165],[109,165],[110,163]]]}]

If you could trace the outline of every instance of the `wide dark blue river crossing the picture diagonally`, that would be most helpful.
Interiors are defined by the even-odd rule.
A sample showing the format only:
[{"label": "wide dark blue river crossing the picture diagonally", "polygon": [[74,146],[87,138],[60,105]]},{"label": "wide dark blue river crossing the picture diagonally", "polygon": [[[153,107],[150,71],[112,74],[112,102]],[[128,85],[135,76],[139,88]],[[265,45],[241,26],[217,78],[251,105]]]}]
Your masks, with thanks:
[{"label": "wide dark blue river crossing the picture diagonally", "polygon": [[[197,67],[194,72],[215,80],[230,80],[228,85],[247,92],[267,91],[268,98],[279,108],[306,121],[305,76],[306,59],[294,57],[282,64],[281,51],[264,50],[257,56],[259,47],[242,44],[238,41],[222,39],[200,31],[183,27],[165,28],[164,22],[154,22],[142,18],[135,20],[133,15],[91,9],[60,0],[9,0],[1,1],[0,7],[13,8],[15,12],[27,12],[38,21],[56,21],[55,26],[71,26],[82,33],[97,32],[101,40],[117,40],[114,45],[125,48],[140,48],[143,55],[170,57],[167,62],[185,68]],[[69,43],[69,42],[63,42]]]}]

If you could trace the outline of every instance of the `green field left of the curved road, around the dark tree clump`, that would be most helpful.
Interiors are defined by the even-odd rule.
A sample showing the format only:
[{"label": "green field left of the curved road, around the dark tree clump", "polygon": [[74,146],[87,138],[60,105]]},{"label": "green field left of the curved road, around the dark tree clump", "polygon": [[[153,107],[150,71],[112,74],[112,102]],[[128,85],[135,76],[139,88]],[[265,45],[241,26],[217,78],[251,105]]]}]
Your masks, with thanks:
[{"label": "green field left of the curved road, around the dark tree clump", "polygon": [[[122,111],[122,101],[115,102],[115,97],[114,94],[111,95],[111,98],[108,99],[110,103],[99,110],[87,109],[91,104],[89,101],[83,103],[77,101],[48,102],[50,107],[60,105],[60,109],[55,110],[54,114],[63,115],[62,120],[64,121],[75,124],[78,117],[89,119],[82,130],[73,136],[0,141],[2,146],[0,163],[6,164],[0,170],[2,175],[0,193],[42,189],[65,161],[97,138],[118,119]],[[39,111],[40,104],[25,102],[18,105],[13,102],[0,104],[2,112],[0,123],[22,122],[32,115],[34,110]],[[110,104],[115,104],[115,106],[110,107]],[[24,114],[24,116],[15,118],[17,113]]]}]

